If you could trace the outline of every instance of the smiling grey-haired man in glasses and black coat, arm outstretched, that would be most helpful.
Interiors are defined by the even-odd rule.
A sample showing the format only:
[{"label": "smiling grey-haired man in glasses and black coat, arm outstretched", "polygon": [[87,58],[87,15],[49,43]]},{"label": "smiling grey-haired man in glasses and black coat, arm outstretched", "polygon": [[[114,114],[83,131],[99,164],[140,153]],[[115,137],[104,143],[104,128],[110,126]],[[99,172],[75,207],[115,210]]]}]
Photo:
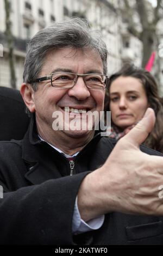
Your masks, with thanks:
[{"label": "smiling grey-haired man in glasses and black coat, arm outstretched", "polygon": [[162,155],[139,149],[153,129],[153,110],[117,144],[95,133],[107,56],[101,35],[80,19],[30,40],[21,86],[29,129],[22,141],[0,143],[2,245],[163,242]]}]

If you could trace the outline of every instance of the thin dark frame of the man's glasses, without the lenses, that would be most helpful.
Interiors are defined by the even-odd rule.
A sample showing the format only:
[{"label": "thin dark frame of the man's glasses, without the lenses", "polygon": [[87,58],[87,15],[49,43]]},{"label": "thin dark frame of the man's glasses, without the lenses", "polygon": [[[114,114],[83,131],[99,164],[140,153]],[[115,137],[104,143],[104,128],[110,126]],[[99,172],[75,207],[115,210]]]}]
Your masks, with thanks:
[{"label": "thin dark frame of the man's glasses, without the lenses", "polygon": [[[77,79],[76,79],[76,81],[74,81],[73,86],[72,86],[72,87],[69,87],[69,88],[59,87],[59,86],[53,86],[53,84],[52,84],[52,77],[53,77],[54,74],[71,74],[71,75],[76,75],[76,76],[77,76]],[[43,76],[43,77],[40,77],[40,78],[36,78],[34,81],[31,81],[30,83],[38,83],[38,82],[42,82],[42,81],[51,80],[51,86],[52,86],[52,87],[60,88],[60,89],[71,89],[71,88],[73,88],[73,87],[76,85],[76,83],[77,83],[77,81],[78,81],[78,78],[79,78],[80,76],[83,77],[83,76],[86,76],[86,75],[102,75],[102,76],[105,76],[105,77],[106,77],[106,83],[105,83],[105,87],[104,87],[104,88],[90,88],[90,87],[87,87],[87,86],[86,86],[86,83],[85,83],[85,81],[84,81],[84,79],[83,79],[86,88],[89,88],[89,89],[92,89],[92,90],[102,90],[102,89],[105,89],[105,88],[108,86],[109,77],[108,77],[107,75],[98,74],[98,73],[89,73],[89,74],[80,75],[80,74],[76,74],[76,73],[72,73],[72,72],[55,72],[55,73],[52,73],[51,75],[48,75],[48,76]]]}]

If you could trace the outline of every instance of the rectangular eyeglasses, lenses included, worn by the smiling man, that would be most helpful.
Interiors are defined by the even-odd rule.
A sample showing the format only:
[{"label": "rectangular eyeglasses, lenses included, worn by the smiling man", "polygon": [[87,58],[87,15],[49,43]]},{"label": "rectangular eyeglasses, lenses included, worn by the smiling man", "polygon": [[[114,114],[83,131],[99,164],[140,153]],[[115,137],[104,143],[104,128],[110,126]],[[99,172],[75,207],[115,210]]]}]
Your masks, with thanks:
[{"label": "rectangular eyeglasses, lenses included, worn by the smiling man", "polygon": [[79,75],[70,72],[57,72],[49,76],[37,78],[33,83],[51,80],[52,87],[70,89],[77,83],[79,76],[83,77],[85,85],[89,89],[104,89],[109,81],[109,77],[102,74]]}]

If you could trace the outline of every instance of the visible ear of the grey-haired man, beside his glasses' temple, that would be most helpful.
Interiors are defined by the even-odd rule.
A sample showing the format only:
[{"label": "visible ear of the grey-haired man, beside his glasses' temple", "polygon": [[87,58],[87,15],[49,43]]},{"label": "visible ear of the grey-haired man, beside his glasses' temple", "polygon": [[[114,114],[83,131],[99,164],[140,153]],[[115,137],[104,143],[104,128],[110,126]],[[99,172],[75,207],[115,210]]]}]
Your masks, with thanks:
[{"label": "visible ear of the grey-haired man, beside his glasses' temple", "polygon": [[29,83],[23,83],[20,89],[23,100],[31,113],[35,112],[34,90]]}]

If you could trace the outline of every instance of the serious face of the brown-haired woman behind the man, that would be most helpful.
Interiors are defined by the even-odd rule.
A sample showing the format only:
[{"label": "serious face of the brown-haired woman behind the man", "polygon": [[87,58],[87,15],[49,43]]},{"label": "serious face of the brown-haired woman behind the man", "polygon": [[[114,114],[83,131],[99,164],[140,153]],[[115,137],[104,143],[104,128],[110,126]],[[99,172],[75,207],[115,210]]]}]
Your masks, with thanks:
[{"label": "serious face of the brown-haired woman behind the man", "polygon": [[131,76],[116,78],[109,97],[112,122],[121,129],[136,124],[149,106],[141,80]]}]

